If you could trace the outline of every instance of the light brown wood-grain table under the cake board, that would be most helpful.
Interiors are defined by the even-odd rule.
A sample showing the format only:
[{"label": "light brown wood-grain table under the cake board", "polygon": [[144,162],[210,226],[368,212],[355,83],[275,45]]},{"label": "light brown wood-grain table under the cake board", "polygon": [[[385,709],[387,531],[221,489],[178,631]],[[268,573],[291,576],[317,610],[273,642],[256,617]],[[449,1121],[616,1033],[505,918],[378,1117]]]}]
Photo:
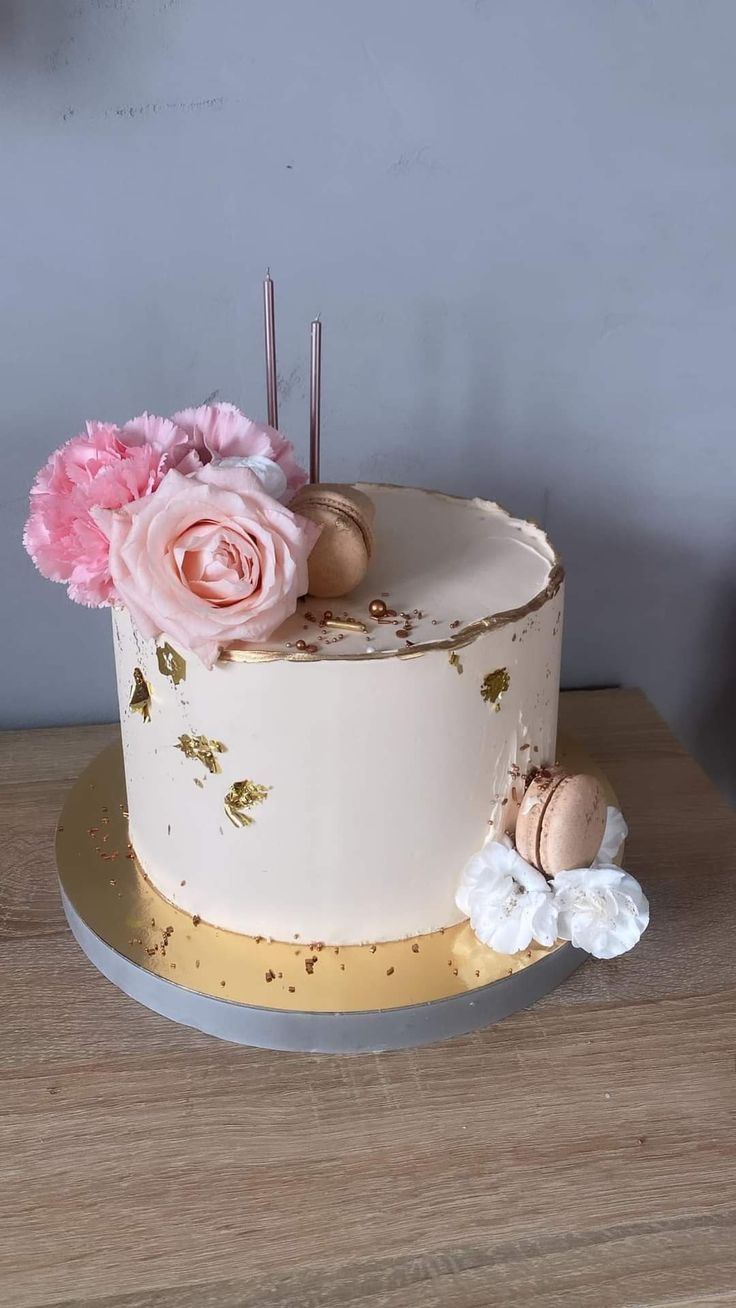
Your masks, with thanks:
[{"label": "light brown wood-grain table under the cake board", "polygon": [[332,1058],[178,1028],[65,927],[52,833],[115,727],[0,736],[0,1303],[736,1303],[736,815],[634,691],[563,696],[652,926],[536,1008]]}]

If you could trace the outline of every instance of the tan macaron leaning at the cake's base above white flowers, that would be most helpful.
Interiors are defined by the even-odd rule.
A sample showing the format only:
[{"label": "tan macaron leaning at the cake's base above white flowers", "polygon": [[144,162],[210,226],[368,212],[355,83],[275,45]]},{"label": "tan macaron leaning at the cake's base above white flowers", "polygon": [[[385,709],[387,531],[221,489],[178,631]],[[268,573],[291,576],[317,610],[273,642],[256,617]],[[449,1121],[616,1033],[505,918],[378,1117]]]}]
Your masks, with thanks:
[{"label": "tan macaron leaning at the cake's base above white flowers", "polygon": [[516,819],[516,849],[548,876],[590,867],[605,829],[605,794],[596,777],[543,768],[532,778]]}]

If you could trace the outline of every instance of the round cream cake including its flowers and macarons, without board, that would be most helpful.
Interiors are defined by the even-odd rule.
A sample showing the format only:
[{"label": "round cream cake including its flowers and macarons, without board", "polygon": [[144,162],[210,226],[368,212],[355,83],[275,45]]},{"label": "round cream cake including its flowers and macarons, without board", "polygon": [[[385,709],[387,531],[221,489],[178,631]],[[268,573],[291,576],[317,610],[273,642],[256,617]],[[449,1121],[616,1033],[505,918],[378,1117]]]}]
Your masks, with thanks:
[{"label": "round cream cake including its flowers and macarons, without board", "polygon": [[375,950],[468,920],[511,960],[639,939],[621,814],[557,760],[540,527],[314,460],[307,484],[275,426],[213,404],[88,424],[25,544],[112,610],[129,853],[193,925]]}]

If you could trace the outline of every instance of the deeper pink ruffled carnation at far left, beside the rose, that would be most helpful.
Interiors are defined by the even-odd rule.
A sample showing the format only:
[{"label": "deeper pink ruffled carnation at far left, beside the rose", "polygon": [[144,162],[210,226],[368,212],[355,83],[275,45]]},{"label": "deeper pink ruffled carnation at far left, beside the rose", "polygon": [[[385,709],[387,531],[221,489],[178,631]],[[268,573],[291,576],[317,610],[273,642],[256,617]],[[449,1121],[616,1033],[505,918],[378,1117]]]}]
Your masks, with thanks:
[{"label": "deeper pink ruffled carnation at far left, beside the rose", "polygon": [[88,422],[86,433],[56,450],[34,481],[24,545],[38,570],[65,582],[80,604],[112,603],[110,545],[93,511],[149,496],[165,470],[154,445],[131,446],[112,424]]}]

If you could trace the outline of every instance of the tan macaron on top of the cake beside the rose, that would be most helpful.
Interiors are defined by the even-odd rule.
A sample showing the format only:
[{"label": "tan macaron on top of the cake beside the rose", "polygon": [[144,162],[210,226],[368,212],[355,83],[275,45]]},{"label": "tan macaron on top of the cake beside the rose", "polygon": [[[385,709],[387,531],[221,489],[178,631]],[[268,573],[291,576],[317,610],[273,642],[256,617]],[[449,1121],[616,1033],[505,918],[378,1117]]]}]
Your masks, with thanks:
[{"label": "tan macaron on top of the cake beside the rose", "polygon": [[309,557],[310,595],[335,599],[363,579],[373,553],[373,500],[354,487],[303,487],[289,508],[322,527]]}]

